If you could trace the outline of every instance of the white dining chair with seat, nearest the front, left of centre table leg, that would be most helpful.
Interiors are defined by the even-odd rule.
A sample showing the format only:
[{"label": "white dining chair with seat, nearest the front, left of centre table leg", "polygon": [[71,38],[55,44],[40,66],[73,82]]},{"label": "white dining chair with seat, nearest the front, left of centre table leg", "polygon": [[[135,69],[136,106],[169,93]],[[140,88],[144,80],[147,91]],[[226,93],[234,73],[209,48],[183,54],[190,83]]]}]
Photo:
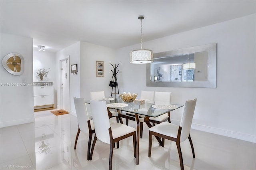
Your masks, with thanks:
[{"label": "white dining chair with seat, nearest the front, left of centre table leg", "polygon": [[133,136],[134,157],[136,158],[136,129],[121,123],[110,124],[108,121],[106,102],[90,100],[90,105],[96,134],[96,138],[94,138],[92,143],[90,159],[92,160],[92,154],[97,138],[104,143],[110,144],[108,169],[111,170],[114,143],[117,142],[117,148],[119,148],[119,141],[130,136]]}]

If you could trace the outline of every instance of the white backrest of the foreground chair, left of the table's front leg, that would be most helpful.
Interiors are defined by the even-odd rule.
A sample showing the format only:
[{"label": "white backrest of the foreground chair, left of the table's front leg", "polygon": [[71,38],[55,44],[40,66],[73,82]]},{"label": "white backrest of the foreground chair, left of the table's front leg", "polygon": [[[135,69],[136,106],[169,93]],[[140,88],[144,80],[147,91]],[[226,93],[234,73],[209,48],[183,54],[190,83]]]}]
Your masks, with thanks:
[{"label": "white backrest of the foreground chair, left of the table's front leg", "polygon": [[110,144],[108,110],[105,101],[90,100],[95,134],[102,142]]}]

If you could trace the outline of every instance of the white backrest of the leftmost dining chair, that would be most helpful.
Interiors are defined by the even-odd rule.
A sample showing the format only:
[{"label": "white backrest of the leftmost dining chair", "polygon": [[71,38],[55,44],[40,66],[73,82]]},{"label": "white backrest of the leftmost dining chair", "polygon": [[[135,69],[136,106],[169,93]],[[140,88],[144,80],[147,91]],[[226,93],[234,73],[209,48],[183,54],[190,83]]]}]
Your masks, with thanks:
[{"label": "white backrest of the leftmost dining chair", "polygon": [[88,111],[86,108],[85,101],[82,98],[74,97],[74,103],[75,103],[76,116],[77,116],[79,128],[82,132],[88,133],[87,121],[89,120],[89,117],[88,117]]}]

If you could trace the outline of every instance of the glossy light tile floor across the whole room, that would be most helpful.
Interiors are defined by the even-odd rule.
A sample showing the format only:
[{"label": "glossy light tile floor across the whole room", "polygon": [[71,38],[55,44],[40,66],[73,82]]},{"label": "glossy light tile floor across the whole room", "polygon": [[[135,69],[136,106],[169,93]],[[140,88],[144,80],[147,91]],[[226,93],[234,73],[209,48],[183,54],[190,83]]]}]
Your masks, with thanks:
[{"label": "glossy light tile floor across the whole room", "polygon": [[[74,141],[77,118],[55,116],[50,111],[35,112],[35,123],[1,128],[1,170],[107,170],[109,148],[99,140],[93,158],[87,161],[88,134],[80,133],[76,150]],[[113,119],[113,118],[112,118]],[[113,119],[111,121],[115,121]],[[136,127],[135,122],[129,125]],[[196,158],[189,141],[182,142],[185,170],[255,170],[256,144],[198,130],[191,130]],[[133,155],[132,137],[122,140],[114,149],[113,170],[180,170],[174,142],[166,140],[164,148],[152,143],[148,157],[148,127],[140,139],[139,165]]]}]

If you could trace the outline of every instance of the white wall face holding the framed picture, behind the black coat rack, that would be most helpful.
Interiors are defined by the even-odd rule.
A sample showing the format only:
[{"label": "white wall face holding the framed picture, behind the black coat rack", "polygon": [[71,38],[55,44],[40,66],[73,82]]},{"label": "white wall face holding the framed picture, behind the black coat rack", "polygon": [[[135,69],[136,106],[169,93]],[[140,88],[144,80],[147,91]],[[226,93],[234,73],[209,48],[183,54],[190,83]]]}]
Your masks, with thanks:
[{"label": "white wall face holding the framed picture, behind the black coat rack", "polygon": [[[96,61],[104,61],[104,77],[96,77]],[[90,99],[91,91],[105,91],[105,96],[110,97],[112,87],[109,87],[109,82],[113,75],[111,70],[114,71],[110,63],[114,66],[118,65],[115,61],[114,49],[81,42],[80,96],[82,98]]]}]

